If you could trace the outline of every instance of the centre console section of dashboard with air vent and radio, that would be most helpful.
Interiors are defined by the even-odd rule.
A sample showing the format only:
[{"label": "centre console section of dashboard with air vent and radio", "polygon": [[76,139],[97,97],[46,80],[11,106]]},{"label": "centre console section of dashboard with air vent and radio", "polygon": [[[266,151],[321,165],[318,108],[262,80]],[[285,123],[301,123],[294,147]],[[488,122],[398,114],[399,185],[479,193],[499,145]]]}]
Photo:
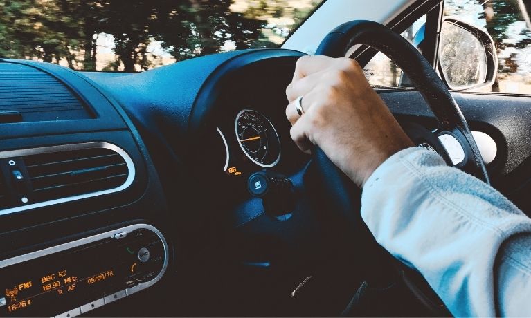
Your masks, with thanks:
[{"label": "centre console section of dashboard with air vent and radio", "polygon": [[0,316],[87,315],[159,281],[167,206],[125,112],[60,66],[0,73]]}]

